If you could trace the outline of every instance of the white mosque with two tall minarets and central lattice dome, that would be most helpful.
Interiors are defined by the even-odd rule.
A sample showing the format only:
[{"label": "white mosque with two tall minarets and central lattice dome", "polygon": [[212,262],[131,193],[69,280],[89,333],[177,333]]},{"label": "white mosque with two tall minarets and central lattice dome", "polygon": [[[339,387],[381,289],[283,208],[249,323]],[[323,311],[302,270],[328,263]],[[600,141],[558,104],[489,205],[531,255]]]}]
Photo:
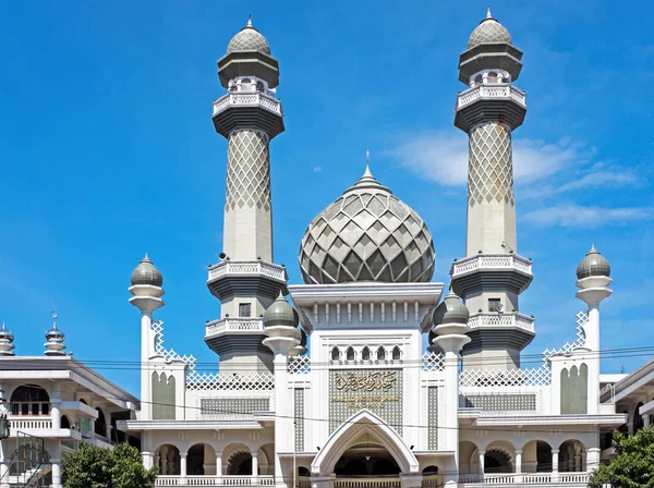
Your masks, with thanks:
[{"label": "white mosque with two tall minarets and central lattice dome", "polygon": [[521,59],[489,10],[460,56],[468,227],[449,283],[432,281],[427,224],[366,168],[308,223],[304,283],[290,284],[272,255],[279,62],[251,21],[229,41],[213,109],[228,147],[223,243],[207,277],[221,316],[205,324],[218,373],[165,344],[164,277],[147,256],[129,289],[141,313],[141,400],[114,425],[140,439],[157,486],[584,487],[615,454],[614,430],[649,425],[654,363],[600,373],[611,278],[594,247],[580,249],[583,310],[570,341],[537,367],[521,364],[536,330],[519,303],[533,279],[513,194]]}]

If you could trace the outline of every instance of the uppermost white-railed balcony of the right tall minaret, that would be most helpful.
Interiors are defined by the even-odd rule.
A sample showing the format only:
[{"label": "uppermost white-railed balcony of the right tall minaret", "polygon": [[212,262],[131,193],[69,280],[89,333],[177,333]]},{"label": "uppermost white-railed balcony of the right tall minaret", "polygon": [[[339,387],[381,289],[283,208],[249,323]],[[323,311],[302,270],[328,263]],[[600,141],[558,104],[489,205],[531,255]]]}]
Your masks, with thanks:
[{"label": "uppermost white-railed balcony of the right tall minaret", "polygon": [[511,130],[524,122],[526,94],[511,84],[480,84],[457,96],[455,125],[464,132],[479,123],[499,121]]}]

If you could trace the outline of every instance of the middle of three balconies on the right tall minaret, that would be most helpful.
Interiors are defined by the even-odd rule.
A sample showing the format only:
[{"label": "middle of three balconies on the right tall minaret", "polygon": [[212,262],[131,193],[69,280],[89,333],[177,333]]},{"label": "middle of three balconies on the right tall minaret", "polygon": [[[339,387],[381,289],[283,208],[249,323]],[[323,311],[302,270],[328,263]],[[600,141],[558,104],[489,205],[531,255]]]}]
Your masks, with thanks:
[{"label": "middle of three balconies on the right tall minaret", "polygon": [[452,290],[462,298],[484,289],[520,294],[533,280],[532,261],[516,254],[480,254],[452,263],[450,276]]}]

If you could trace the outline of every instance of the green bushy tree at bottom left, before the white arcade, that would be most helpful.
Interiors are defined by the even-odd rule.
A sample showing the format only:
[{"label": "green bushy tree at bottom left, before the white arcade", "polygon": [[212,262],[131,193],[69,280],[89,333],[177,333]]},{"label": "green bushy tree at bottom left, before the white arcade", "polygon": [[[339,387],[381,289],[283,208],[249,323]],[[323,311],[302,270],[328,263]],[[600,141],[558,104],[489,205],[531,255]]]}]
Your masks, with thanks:
[{"label": "green bushy tree at bottom left, before the white arcade", "polygon": [[128,443],[113,449],[81,443],[63,456],[65,488],[152,488],[157,473],[143,466],[136,448]]}]

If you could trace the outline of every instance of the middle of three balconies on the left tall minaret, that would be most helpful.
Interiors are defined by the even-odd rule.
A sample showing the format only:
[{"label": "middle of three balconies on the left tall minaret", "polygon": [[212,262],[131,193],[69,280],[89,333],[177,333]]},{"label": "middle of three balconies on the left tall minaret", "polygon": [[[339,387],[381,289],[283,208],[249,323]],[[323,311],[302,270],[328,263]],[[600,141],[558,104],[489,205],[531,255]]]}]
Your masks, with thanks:
[{"label": "middle of three balconies on the left tall minaret", "polygon": [[283,266],[261,259],[252,261],[223,260],[209,267],[207,286],[222,301],[230,296],[258,295],[272,301],[287,291],[288,274]]}]

